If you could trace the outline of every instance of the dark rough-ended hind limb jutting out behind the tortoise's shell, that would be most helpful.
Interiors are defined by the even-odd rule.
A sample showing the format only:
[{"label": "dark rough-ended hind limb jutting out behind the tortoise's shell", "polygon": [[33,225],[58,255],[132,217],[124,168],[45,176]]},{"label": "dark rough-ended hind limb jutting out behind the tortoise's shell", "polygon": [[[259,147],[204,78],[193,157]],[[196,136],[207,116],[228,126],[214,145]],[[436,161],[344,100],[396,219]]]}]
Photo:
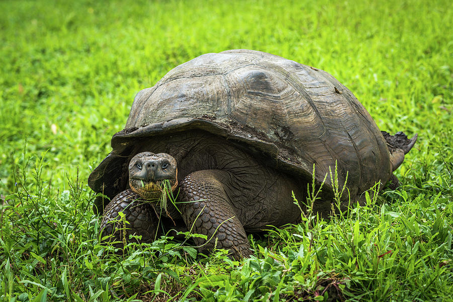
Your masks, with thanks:
[{"label": "dark rough-ended hind limb jutting out behind the tortoise's shell", "polygon": [[407,135],[401,131],[397,132],[395,135],[390,135],[386,131],[381,132],[387,141],[387,147],[390,151],[392,171],[395,171],[403,163],[404,155],[407,154],[414,146],[418,135],[415,134],[411,139],[409,139],[407,138]]}]

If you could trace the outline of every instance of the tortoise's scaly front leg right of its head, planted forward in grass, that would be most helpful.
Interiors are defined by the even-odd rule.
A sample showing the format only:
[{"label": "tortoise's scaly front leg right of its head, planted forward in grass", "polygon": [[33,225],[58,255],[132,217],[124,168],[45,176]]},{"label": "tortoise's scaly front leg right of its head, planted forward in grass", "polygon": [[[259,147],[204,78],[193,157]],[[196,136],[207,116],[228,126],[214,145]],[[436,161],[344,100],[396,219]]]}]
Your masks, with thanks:
[{"label": "tortoise's scaly front leg right of its head, planted forward in grass", "polygon": [[249,257],[252,252],[244,226],[220,181],[225,173],[202,170],[186,176],[180,185],[182,216],[189,230],[193,225],[193,233],[207,236],[207,240],[195,238],[195,243],[202,246],[200,252],[224,248],[234,259]]}]

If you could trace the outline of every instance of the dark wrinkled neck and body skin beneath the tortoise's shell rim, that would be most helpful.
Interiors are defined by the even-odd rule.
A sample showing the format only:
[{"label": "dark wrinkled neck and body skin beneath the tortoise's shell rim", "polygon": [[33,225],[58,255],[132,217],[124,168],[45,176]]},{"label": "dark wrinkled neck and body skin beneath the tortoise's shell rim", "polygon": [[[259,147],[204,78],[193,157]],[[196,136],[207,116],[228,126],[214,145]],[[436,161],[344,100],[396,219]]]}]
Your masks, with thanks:
[{"label": "dark wrinkled neck and body skin beneath the tortoise's shell rim", "polygon": [[[155,136],[141,142],[132,156],[145,151],[172,155],[177,161],[179,183],[195,171],[213,170],[246,231],[300,220],[300,210],[293,204],[291,191],[299,201],[304,201],[306,183],[267,166],[264,160],[255,159],[247,150],[224,138],[202,130]],[[174,196],[177,194],[178,188]],[[160,212],[159,206],[155,209]],[[179,217],[170,201],[167,212],[173,219]]]}]

